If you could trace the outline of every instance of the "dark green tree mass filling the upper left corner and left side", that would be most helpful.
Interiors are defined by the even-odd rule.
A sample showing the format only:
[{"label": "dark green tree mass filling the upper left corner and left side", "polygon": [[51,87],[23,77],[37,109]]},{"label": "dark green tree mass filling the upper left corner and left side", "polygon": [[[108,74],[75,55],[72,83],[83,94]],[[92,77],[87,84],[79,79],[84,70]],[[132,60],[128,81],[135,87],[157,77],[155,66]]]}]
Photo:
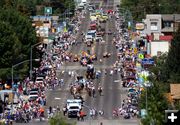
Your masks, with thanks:
[{"label": "dark green tree mass filling the upper left corner and left side", "polygon": [[[41,6],[40,10],[38,6]],[[66,9],[74,9],[73,0],[0,0],[0,79],[11,79],[11,67],[29,59],[30,46],[37,43],[30,16],[43,14],[44,7],[51,6],[58,15]],[[36,55],[36,51],[33,51]],[[37,54],[39,55],[39,54]],[[21,78],[28,74],[28,64],[15,70]]]}]

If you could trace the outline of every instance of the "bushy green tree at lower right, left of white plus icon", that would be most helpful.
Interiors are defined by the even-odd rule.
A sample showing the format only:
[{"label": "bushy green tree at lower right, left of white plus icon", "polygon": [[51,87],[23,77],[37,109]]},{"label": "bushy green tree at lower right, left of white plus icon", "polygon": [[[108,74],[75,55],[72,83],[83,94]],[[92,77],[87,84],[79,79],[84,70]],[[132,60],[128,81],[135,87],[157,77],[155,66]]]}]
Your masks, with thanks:
[{"label": "bushy green tree at lower right, left of white plus icon", "polygon": [[147,116],[142,119],[143,125],[154,123],[155,125],[164,125],[164,111],[168,109],[168,102],[164,96],[164,91],[154,82],[153,86],[145,89],[140,98],[140,109],[146,109],[146,91],[147,91]]}]

